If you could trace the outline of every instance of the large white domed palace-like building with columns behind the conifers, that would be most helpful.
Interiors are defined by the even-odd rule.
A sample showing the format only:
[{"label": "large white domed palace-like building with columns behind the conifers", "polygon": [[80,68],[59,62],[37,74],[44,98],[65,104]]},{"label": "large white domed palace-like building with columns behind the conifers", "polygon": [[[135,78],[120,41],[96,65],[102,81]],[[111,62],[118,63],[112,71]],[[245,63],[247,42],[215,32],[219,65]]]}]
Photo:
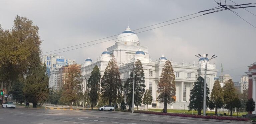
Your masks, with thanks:
[{"label": "large white domed palace-like building with columns behind the conifers", "polygon": [[[145,89],[150,89],[153,96],[153,102],[150,107],[163,108],[163,103],[156,101],[158,96],[157,84],[167,58],[164,57],[163,54],[161,55],[161,53],[159,53],[159,59],[153,61],[151,60],[148,49],[149,47],[141,46],[138,36],[131,31],[129,27],[127,27],[125,31],[118,35],[115,44],[103,51],[101,57],[98,57],[96,62],[93,63],[90,57],[85,60],[85,63],[81,68],[84,79],[83,90],[87,89],[87,81],[91,76],[91,71],[93,70],[94,66],[97,65],[100,69],[101,75],[103,75],[111,55],[114,55],[117,60],[123,85],[131,72],[127,66],[132,67],[134,62],[139,59],[142,62],[145,73]],[[167,108],[188,109],[187,106],[189,104],[190,90],[192,89],[193,83],[196,81],[198,76],[204,77],[205,64],[203,59],[200,59],[197,64],[195,62],[188,64],[184,63],[183,61],[170,61],[174,69],[174,74],[176,75],[176,101],[173,104],[167,105]],[[215,68],[215,63],[208,63],[207,84],[210,92],[213,87],[214,77],[216,77],[216,74],[217,70]],[[140,108],[146,108],[146,106],[141,105]]]}]

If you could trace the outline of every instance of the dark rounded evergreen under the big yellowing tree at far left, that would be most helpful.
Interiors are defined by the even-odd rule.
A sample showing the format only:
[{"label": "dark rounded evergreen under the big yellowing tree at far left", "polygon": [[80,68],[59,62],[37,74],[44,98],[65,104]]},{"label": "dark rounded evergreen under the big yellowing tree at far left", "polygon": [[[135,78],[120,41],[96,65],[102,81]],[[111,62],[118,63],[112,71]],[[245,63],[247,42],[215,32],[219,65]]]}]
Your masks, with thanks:
[{"label": "dark rounded evergreen under the big yellowing tree at far left", "polygon": [[12,95],[12,98],[16,100],[16,104],[25,101],[25,96],[23,95],[23,87],[24,84],[21,81],[14,82],[13,86],[11,87],[9,93]]}]

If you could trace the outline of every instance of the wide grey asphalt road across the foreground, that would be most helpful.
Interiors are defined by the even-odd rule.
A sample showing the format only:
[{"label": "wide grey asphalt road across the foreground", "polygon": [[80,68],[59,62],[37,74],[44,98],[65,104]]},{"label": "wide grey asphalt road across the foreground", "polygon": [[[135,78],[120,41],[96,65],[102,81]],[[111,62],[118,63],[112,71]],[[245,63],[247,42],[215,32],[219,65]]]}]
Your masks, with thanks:
[{"label": "wide grey asphalt road across the foreground", "polygon": [[[221,124],[211,120],[194,120],[172,116],[132,114],[126,112],[0,108],[0,124]],[[232,122],[249,124],[249,122]]]}]

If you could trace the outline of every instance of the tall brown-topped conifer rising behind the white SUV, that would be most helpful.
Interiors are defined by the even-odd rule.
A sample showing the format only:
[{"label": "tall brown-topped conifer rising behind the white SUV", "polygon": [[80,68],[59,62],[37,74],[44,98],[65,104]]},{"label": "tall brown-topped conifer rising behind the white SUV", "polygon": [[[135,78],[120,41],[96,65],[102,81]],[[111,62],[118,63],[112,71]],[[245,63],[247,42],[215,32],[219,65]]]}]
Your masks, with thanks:
[{"label": "tall brown-topped conifer rising behind the white SUV", "polygon": [[103,97],[108,99],[108,105],[116,101],[118,93],[122,93],[123,87],[120,72],[118,71],[118,65],[113,55],[101,78],[101,87],[101,93]]}]

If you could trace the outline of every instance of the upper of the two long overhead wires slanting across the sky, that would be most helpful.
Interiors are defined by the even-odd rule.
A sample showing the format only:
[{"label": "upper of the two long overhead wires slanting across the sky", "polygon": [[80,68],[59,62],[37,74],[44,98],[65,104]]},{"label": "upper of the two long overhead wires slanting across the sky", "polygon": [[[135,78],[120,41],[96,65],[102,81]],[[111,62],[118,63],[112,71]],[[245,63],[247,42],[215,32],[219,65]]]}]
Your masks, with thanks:
[{"label": "upper of the two long overhead wires slanting across the sky", "polygon": [[[216,8],[216,7],[215,7],[215,8]],[[198,12],[197,12],[197,13],[198,13]],[[184,17],[187,17],[187,16],[195,15],[195,14],[197,14],[197,13],[189,14],[189,15],[182,16],[182,17],[179,17],[179,18],[176,18],[176,19],[172,19],[172,20],[168,20],[168,21],[165,21],[165,22],[157,23],[157,24],[154,24],[154,25],[146,26],[146,27],[139,28],[139,29],[136,29],[136,30],[133,30],[133,31],[137,31],[137,30],[145,29],[145,28],[152,27],[152,26],[155,26],[155,25],[163,24],[163,23],[170,22],[170,21],[173,21],[173,20],[177,20],[177,19],[180,19],[180,18],[184,18]],[[120,33],[119,33],[119,34],[120,34]],[[108,36],[108,37],[104,37],[104,38],[97,39],[97,40],[92,40],[92,41],[89,41],[89,42],[85,42],[85,43],[81,43],[81,44],[77,44],[77,45],[73,45],[73,46],[69,46],[69,47],[65,47],[65,48],[61,48],[61,49],[57,49],[57,50],[52,50],[52,51],[49,51],[49,52],[54,52],[54,51],[58,51],[58,50],[66,49],[66,48],[71,48],[71,47],[83,45],[83,44],[86,44],[86,43],[95,42],[95,41],[102,40],[102,39],[106,39],[106,38],[110,38],[110,37],[113,37],[113,36],[118,36],[119,34],[112,35],[112,36]],[[42,53],[42,54],[49,53],[49,52],[44,52],[44,53]]]}]

